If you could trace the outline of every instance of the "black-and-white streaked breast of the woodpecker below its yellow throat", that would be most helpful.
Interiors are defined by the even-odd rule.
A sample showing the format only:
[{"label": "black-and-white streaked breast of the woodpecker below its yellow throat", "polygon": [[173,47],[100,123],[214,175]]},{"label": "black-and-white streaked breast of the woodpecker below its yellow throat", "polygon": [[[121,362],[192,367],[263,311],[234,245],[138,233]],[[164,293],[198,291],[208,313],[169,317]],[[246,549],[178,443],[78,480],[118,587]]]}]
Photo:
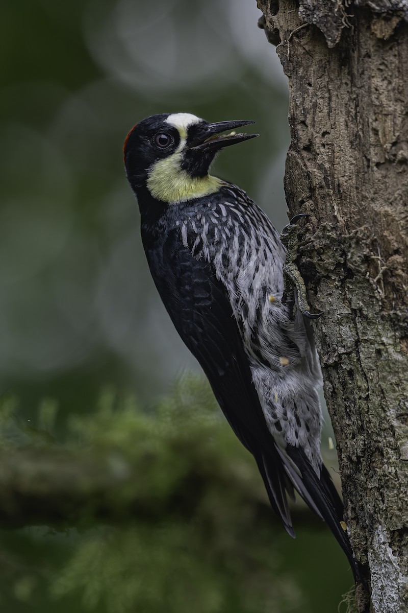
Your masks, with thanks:
[{"label": "black-and-white streaked breast of the woodpecker below its yellow throat", "polygon": [[269,226],[256,221],[221,203],[193,210],[176,223],[182,245],[206,259],[224,284],[248,342],[254,330],[270,327],[283,295],[284,249]]}]

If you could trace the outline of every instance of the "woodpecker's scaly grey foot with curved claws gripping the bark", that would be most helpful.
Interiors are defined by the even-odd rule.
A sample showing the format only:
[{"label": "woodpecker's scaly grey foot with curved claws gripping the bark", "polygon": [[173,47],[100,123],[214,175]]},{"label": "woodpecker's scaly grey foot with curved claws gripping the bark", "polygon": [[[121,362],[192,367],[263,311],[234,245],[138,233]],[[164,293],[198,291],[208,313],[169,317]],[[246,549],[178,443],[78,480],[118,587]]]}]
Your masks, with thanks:
[{"label": "woodpecker's scaly grey foot with curved claws gripping the bark", "polygon": [[299,213],[292,217],[291,221],[285,226],[281,232],[281,242],[286,247],[286,257],[283,264],[284,277],[284,299],[291,292],[295,291],[297,297],[297,307],[302,312],[303,316],[309,319],[317,319],[323,313],[311,313],[308,301],[306,299],[305,281],[300,275],[299,268],[295,263],[297,258],[298,234],[299,227],[297,222],[302,217],[310,217],[308,213]]}]

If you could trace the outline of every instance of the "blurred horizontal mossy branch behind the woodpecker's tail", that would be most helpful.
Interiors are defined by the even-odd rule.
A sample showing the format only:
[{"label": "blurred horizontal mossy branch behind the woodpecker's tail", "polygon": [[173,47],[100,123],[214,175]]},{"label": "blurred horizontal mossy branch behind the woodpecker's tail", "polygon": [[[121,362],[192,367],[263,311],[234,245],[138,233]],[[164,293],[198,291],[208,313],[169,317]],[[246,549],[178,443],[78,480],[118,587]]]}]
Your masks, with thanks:
[{"label": "blurred horizontal mossy branch behind the woodpecker's tail", "polygon": [[[124,524],[174,516],[189,519],[210,489],[224,496],[229,491],[232,499],[239,498],[240,506],[252,506],[268,524],[275,520],[261,481],[259,487],[252,479],[249,484],[247,471],[236,471],[234,462],[212,471],[205,466],[206,458],[198,458],[192,449],[173,451],[184,454],[188,470],[179,473],[173,466],[176,474],[171,480],[167,479],[168,457],[164,460],[152,452],[141,454],[137,462],[118,451],[102,455],[31,449],[1,454],[0,527],[83,526],[95,521]],[[322,525],[303,504],[293,514],[298,519],[302,516],[303,523]]]}]

